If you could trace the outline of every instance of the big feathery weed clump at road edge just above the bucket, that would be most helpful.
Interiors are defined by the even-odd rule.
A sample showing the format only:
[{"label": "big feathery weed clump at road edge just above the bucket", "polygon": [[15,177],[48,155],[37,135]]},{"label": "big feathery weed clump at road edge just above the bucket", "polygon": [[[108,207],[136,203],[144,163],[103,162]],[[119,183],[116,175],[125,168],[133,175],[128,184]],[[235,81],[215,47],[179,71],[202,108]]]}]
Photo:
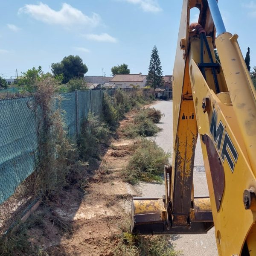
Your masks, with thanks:
[{"label": "big feathery weed clump at road edge just above the bucket", "polygon": [[162,181],[164,165],[169,164],[169,154],[153,140],[138,141],[134,154],[122,171],[125,181],[136,184],[139,181]]}]

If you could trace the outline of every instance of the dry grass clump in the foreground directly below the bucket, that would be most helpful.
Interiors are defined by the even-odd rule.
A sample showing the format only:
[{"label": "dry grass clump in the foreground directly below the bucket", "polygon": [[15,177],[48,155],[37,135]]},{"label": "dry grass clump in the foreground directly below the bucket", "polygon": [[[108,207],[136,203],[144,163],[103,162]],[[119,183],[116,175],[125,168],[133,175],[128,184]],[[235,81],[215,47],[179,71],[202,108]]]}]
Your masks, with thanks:
[{"label": "dry grass clump in the foreground directly below the bucket", "polygon": [[119,233],[113,236],[119,242],[113,250],[114,256],[178,256],[180,252],[174,250],[170,242],[171,236],[154,235],[139,236],[130,232],[131,216],[125,214],[119,224]]}]

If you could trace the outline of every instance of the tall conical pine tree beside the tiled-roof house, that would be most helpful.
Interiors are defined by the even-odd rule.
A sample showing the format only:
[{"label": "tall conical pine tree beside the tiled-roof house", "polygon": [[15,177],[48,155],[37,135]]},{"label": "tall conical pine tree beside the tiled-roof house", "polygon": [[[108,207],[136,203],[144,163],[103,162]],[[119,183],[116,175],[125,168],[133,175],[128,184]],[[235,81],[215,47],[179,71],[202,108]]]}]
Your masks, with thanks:
[{"label": "tall conical pine tree beside the tiled-roof house", "polygon": [[156,46],[151,53],[146,85],[153,88],[164,86],[163,71]]}]

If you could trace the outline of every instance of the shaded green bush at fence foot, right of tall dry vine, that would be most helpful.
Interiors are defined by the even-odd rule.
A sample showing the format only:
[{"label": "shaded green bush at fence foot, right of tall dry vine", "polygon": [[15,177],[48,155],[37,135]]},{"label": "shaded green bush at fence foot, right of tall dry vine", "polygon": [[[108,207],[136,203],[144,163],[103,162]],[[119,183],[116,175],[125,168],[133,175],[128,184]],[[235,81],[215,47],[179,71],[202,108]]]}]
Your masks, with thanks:
[{"label": "shaded green bush at fence foot, right of tall dry vine", "polygon": [[81,135],[78,141],[80,158],[88,160],[90,157],[99,157],[99,146],[108,143],[110,130],[99,121],[99,116],[89,113],[81,125]]}]

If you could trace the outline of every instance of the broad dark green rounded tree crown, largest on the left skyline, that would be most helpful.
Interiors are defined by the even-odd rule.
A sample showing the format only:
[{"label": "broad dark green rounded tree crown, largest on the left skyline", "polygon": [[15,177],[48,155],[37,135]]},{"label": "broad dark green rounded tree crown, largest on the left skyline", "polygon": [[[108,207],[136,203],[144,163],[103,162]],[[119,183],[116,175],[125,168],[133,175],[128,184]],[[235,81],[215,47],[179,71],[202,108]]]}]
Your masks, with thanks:
[{"label": "broad dark green rounded tree crown, largest on the left skyline", "polygon": [[52,63],[51,67],[54,76],[63,75],[62,83],[64,84],[70,79],[84,77],[88,71],[86,64],[83,64],[83,60],[78,55],[64,57],[61,62]]}]

